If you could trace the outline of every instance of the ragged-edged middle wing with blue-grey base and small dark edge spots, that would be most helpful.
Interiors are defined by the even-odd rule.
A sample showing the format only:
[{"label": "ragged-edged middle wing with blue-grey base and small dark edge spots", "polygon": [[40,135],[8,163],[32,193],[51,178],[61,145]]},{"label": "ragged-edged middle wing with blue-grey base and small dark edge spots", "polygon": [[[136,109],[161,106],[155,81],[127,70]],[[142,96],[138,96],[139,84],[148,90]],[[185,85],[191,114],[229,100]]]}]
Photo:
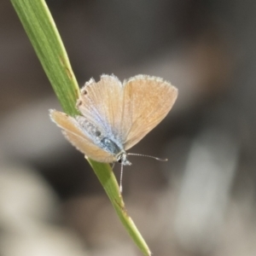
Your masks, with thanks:
[{"label": "ragged-edged middle wing with blue-grey base and small dark edge spots", "polygon": [[101,125],[108,137],[120,142],[124,86],[118,78],[102,75],[97,83],[90,79],[81,90],[77,107],[86,119]]}]

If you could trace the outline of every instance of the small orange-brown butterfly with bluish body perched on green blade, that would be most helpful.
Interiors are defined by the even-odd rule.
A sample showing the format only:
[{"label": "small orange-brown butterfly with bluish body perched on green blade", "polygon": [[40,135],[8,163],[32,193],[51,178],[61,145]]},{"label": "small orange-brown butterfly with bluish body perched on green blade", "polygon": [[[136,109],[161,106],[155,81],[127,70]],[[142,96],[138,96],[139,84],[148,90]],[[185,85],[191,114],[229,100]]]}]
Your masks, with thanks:
[{"label": "small orange-brown butterfly with bluish body perched on green blade", "polygon": [[163,79],[137,75],[123,83],[103,74],[84,84],[76,103],[80,115],[49,110],[67,140],[92,160],[131,165],[126,150],[160,123],[177,99]]}]

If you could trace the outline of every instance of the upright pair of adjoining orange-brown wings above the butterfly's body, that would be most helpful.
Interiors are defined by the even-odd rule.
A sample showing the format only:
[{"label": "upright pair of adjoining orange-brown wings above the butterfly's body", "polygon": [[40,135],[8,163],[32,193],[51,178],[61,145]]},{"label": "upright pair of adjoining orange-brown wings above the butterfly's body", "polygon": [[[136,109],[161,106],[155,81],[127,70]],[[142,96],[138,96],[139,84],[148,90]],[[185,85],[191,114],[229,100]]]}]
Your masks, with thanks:
[{"label": "upright pair of adjoining orange-brown wings above the butterfly's body", "polygon": [[138,75],[122,84],[102,75],[84,85],[77,106],[119,148],[129,149],[166,117],[176,98],[177,89],[160,78]]}]

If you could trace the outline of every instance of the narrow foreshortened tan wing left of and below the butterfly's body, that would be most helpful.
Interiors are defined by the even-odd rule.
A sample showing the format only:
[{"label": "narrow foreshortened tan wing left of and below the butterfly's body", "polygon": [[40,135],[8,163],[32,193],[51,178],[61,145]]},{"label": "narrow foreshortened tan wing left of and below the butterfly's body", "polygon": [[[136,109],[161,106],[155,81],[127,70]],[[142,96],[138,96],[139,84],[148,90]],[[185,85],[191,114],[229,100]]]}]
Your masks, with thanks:
[{"label": "narrow foreshortened tan wing left of and below the butterfly's body", "polygon": [[86,136],[81,129],[78,121],[66,113],[56,110],[50,110],[50,118],[56,125],[61,127],[63,134],[73,146],[89,158],[99,162],[113,162],[115,160],[112,154],[98,147],[90,137]]}]

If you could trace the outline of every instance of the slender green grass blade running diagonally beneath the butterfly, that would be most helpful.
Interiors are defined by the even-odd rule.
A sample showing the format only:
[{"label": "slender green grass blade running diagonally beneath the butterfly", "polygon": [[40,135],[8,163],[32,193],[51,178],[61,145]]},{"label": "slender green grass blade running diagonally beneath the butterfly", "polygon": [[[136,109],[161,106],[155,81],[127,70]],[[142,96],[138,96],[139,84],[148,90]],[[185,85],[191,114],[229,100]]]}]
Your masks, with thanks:
[{"label": "slender green grass blade running diagonally beneath the butterfly", "polygon": [[[59,102],[61,102],[61,107],[70,115],[78,114],[75,103],[79,96],[79,85],[46,3],[44,0],[11,0],[11,3],[26,30]],[[125,211],[125,204],[119,194],[119,186],[112,169],[107,164],[93,160],[89,160],[89,162],[125,229],[143,254],[151,255],[143,236]]]}]

